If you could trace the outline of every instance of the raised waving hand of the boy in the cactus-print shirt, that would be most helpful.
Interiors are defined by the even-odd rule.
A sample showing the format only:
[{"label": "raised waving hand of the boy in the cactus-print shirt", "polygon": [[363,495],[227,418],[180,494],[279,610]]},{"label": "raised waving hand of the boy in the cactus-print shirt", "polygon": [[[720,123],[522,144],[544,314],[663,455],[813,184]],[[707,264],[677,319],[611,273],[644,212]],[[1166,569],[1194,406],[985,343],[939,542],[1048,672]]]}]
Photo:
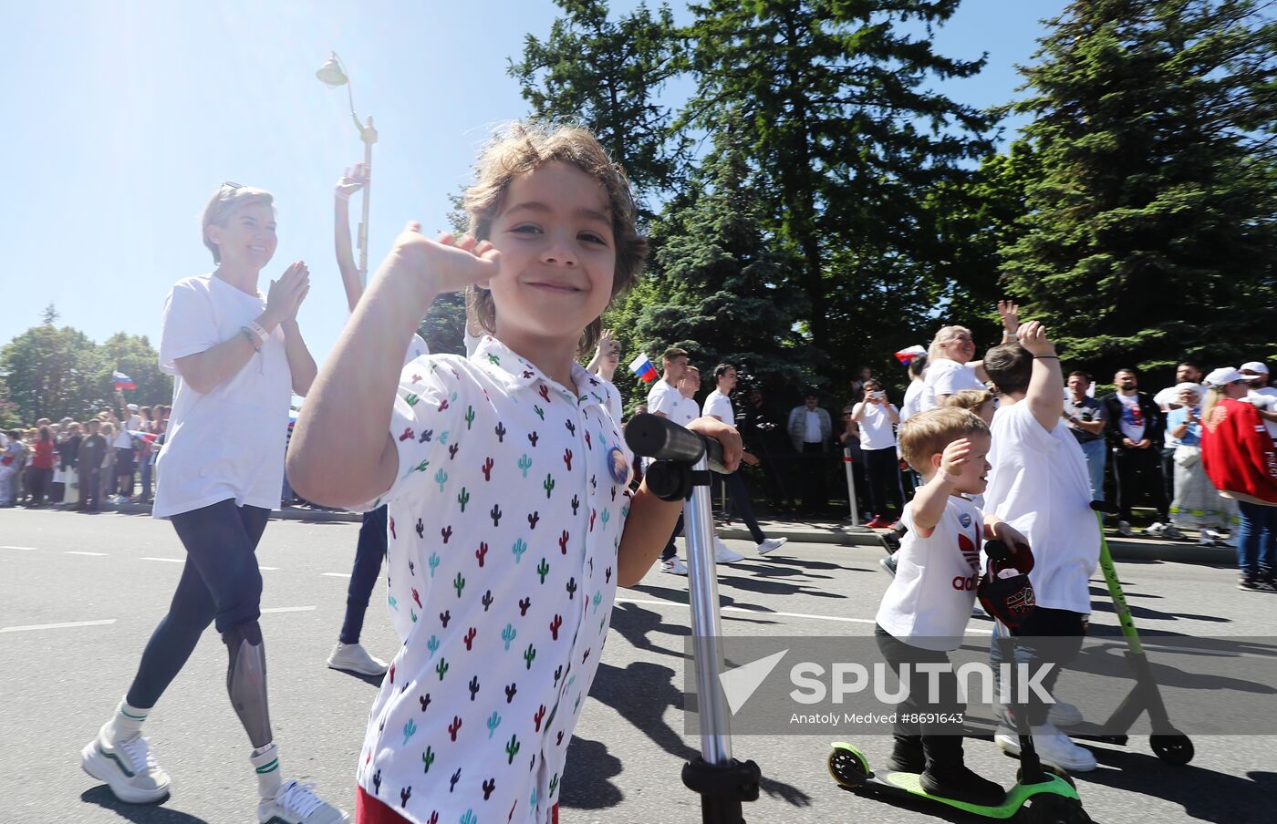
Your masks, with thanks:
[{"label": "raised waving hand of the boy in the cactus-print shirt", "polygon": [[476,241],[469,235],[461,240],[451,232],[429,240],[421,235],[421,224],[409,224],[395,239],[395,247],[382,264],[387,277],[402,273],[414,282],[429,287],[433,295],[460,292],[467,286],[487,286],[501,273],[501,253],[488,241]]}]

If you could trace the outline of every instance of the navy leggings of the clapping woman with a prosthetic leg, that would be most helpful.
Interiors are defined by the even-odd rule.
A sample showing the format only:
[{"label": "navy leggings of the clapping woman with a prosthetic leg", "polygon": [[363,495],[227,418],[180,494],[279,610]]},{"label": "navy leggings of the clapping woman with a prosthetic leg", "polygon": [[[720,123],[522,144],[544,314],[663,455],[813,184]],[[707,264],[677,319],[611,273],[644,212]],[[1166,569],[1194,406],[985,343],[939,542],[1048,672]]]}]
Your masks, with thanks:
[{"label": "navy leggings of the clapping woman with a prosthetic leg", "polygon": [[262,571],[257,545],[271,510],[218,501],[172,517],[186,547],[186,565],[163,616],[142,653],[128,702],[155,707],[195,651],[199,636],[216,624],[223,636],[262,615]]}]

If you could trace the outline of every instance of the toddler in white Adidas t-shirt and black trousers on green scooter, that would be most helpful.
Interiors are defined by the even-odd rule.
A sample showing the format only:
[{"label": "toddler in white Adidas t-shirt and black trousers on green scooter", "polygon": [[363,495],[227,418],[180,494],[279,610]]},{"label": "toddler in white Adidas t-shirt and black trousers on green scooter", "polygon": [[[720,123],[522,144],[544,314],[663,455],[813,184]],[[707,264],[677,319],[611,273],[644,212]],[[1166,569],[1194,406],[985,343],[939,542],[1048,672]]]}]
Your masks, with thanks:
[{"label": "toddler in white Adidas t-shirt and black trousers on green scooter", "polygon": [[[949,663],[949,651],[962,643],[976,602],[982,540],[1028,543],[971,500],[985,491],[990,445],[988,426],[967,409],[931,409],[900,427],[900,453],[923,483],[900,518],[908,532],[875,619],[884,658],[902,680],[902,670],[908,670],[911,680],[911,691],[896,708],[888,769],[919,773],[922,788],[931,795],[985,806],[1001,804],[1005,793],[963,764],[965,704],[958,681],[951,671],[937,673],[939,700],[928,702],[930,679],[918,665]],[[933,721],[907,722],[913,714]]]}]

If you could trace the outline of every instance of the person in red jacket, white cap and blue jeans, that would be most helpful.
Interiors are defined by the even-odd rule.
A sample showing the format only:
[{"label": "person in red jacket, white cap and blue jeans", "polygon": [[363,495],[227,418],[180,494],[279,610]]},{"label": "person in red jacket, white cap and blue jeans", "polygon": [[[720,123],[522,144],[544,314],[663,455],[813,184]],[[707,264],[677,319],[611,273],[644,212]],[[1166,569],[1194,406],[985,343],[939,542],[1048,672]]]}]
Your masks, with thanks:
[{"label": "person in red jacket, white cap and blue jeans", "polygon": [[1245,403],[1246,375],[1231,366],[1205,378],[1202,404],[1202,464],[1216,489],[1237,501],[1239,589],[1273,591],[1273,538],[1277,536],[1277,448],[1263,418]]}]

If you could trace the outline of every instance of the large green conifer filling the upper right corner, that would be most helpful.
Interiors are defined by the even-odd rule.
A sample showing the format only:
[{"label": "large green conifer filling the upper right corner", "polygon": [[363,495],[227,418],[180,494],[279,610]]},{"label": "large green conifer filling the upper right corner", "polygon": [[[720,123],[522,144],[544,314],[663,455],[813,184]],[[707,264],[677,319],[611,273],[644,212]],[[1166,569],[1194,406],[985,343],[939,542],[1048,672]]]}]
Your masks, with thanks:
[{"label": "large green conifer filling the upper right corner", "polygon": [[1052,20],[1015,105],[1037,170],[1001,254],[1073,360],[1277,353],[1274,55],[1250,0],[1097,0]]}]

